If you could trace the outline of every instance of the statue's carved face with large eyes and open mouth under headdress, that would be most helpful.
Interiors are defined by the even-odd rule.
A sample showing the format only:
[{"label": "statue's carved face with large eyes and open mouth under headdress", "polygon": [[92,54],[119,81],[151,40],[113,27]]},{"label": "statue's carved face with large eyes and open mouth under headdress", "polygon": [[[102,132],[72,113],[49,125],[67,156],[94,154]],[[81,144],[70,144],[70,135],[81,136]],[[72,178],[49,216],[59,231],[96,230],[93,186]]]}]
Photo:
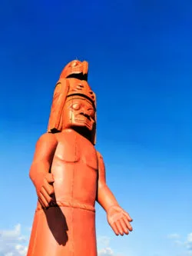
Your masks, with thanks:
[{"label": "statue's carved face with large eyes and open mouth under headdress", "polygon": [[71,96],[65,101],[63,109],[63,128],[86,128],[93,131],[95,124],[95,110],[87,98]]}]

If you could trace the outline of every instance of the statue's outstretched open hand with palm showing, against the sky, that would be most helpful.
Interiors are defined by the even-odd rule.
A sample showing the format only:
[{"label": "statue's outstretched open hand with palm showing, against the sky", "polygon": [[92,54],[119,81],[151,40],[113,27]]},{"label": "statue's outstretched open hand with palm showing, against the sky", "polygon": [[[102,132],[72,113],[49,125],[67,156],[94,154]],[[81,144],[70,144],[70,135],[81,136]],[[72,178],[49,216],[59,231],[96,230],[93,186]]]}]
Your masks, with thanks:
[{"label": "statue's outstretched open hand with palm showing, against the sky", "polygon": [[113,229],[114,233],[119,235],[129,234],[132,231],[130,222],[132,221],[129,214],[120,206],[111,206],[108,210],[108,223]]}]

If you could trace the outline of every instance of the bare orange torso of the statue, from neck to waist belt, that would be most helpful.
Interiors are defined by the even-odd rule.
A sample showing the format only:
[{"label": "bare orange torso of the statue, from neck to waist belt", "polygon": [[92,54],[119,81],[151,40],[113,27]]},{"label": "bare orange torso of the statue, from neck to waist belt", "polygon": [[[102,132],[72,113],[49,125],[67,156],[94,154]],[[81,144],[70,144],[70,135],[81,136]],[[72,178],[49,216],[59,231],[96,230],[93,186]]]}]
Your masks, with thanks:
[{"label": "bare orange torso of the statue, from neck to waist belt", "polygon": [[56,201],[94,206],[98,185],[98,157],[94,146],[76,131],[57,135],[51,165]]}]

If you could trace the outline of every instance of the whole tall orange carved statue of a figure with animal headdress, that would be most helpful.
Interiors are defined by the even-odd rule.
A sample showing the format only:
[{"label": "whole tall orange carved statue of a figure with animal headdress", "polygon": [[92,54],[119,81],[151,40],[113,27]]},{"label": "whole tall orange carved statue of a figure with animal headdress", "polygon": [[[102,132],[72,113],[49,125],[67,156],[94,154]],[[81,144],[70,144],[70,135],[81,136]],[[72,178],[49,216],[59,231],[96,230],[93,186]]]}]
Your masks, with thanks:
[{"label": "whole tall orange carved statue of a figure with animal headdress", "polygon": [[95,201],[115,234],[132,231],[94,148],[96,98],[87,80],[88,62],[75,60],[55,86],[48,132],[38,139],[29,173],[38,204],[28,256],[96,256]]}]

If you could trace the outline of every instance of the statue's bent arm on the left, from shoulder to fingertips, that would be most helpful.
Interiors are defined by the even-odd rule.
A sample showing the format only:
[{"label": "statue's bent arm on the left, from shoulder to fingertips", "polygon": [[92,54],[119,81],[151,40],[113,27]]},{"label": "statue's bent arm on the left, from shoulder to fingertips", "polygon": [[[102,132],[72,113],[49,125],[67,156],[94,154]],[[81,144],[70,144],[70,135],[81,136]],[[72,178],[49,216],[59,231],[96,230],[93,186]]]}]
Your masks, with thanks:
[{"label": "statue's bent arm on the left, from shoulder to fingertips", "polygon": [[36,144],[34,159],[29,171],[29,177],[35,185],[38,200],[45,208],[48,208],[51,194],[54,193],[52,185],[54,179],[49,170],[57,145],[58,141],[55,135],[51,133],[42,135]]}]

